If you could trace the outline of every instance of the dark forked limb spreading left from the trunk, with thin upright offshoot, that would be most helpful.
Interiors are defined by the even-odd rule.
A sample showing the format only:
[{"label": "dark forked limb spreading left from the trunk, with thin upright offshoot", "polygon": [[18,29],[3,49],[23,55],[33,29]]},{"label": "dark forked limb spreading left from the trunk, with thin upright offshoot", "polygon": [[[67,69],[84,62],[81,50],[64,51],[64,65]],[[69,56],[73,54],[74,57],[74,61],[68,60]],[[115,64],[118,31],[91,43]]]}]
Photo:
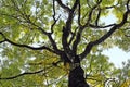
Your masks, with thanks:
[{"label": "dark forked limb spreading left from the trunk, with thin upright offshoot", "polygon": [[[51,52],[54,52],[54,53],[56,53],[56,54],[60,54],[60,53],[61,53],[61,50],[58,50],[58,48],[57,48],[54,39],[52,38],[52,33],[53,33],[53,32],[52,32],[52,33],[46,32],[42,27],[40,27],[39,25],[37,25],[36,23],[34,23],[26,13],[23,13],[23,12],[21,11],[21,9],[18,8],[18,5],[17,5],[13,0],[12,0],[12,3],[14,4],[15,10],[18,11],[22,16],[10,15],[10,14],[4,14],[4,13],[1,13],[1,14],[2,14],[2,15],[5,15],[5,16],[9,16],[9,17],[12,17],[12,18],[15,18],[15,20],[17,20],[17,21],[20,21],[20,22],[28,23],[28,24],[30,24],[31,26],[36,26],[39,32],[41,32],[43,35],[48,36],[48,38],[49,38],[49,40],[50,40],[50,42],[51,42],[51,45],[52,45],[52,47],[53,47],[53,50],[51,50],[50,48],[47,48],[46,46],[42,46],[42,47],[39,47],[39,48],[35,48],[35,47],[30,47],[30,46],[27,46],[27,45],[17,45],[17,44],[15,44],[15,42],[13,42],[13,41],[11,41],[11,40],[9,40],[9,39],[6,39],[6,41],[11,42],[11,44],[14,45],[14,46],[25,47],[25,48],[29,48],[29,49],[32,49],[32,50],[47,49],[47,50],[49,50],[49,51],[51,51]],[[54,8],[54,5],[53,5],[53,8]],[[23,17],[24,21],[21,20],[21,17]],[[53,15],[54,23],[51,25],[51,30],[53,29],[53,27],[54,27],[54,25],[56,24],[56,22],[58,21],[58,18],[60,18],[60,16],[58,16],[57,18],[55,18],[55,12],[54,12],[54,15]]]}]

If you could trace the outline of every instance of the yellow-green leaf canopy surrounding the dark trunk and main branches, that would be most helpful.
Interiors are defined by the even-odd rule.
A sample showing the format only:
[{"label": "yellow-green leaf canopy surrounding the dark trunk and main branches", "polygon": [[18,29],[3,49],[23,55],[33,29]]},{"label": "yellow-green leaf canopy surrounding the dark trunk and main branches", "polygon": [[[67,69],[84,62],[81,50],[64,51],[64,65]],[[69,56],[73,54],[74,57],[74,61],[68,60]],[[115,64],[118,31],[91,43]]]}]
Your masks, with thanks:
[{"label": "yellow-green leaf canopy surrounding the dark trunk and main branches", "polygon": [[[1,86],[67,87],[68,71],[65,71],[60,57],[65,51],[62,44],[63,26],[66,27],[66,21],[69,21],[69,12],[64,8],[72,9],[76,0],[61,1],[63,4],[57,0],[54,0],[54,4],[53,0],[0,0]],[[70,51],[76,35],[83,27],[79,42],[77,40],[77,55],[84,51],[89,42],[96,41],[114,26],[101,21],[102,17],[114,15],[118,21],[116,24],[119,24],[126,12],[126,3],[127,0],[80,0],[80,5],[74,11],[70,28],[66,28],[70,29],[67,38]],[[130,50],[129,20],[112,37],[92,48],[82,60],[87,80],[92,86],[104,87],[104,82],[110,78],[119,78],[122,85],[128,82],[123,80],[130,77],[129,63],[125,63],[123,69],[116,69],[108,57],[101,52],[114,46]],[[56,46],[58,52],[55,52]],[[14,78],[2,80],[12,76]],[[118,82],[116,84],[120,85]],[[109,83],[115,87],[116,84]]]}]

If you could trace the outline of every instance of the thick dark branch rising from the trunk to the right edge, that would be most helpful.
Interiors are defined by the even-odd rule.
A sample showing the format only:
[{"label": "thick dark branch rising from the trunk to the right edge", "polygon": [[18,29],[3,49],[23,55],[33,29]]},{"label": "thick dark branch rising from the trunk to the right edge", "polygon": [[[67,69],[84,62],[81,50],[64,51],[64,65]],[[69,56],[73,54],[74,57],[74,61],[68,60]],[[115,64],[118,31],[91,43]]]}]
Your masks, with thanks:
[{"label": "thick dark branch rising from the trunk to the right edge", "polygon": [[128,10],[125,14],[123,14],[123,18],[121,21],[121,23],[119,24],[116,24],[115,26],[113,26],[110,28],[109,32],[107,32],[105,35],[103,35],[101,38],[99,38],[98,40],[95,41],[91,41],[90,44],[88,44],[88,46],[86,47],[84,51],[79,55],[80,59],[82,60],[83,58],[86,58],[86,55],[88,53],[90,53],[91,49],[93,46],[96,46],[103,41],[105,41],[116,29],[120,28],[121,26],[125,25],[125,23],[127,23],[127,17],[128,15],[130,14],[130,10]]}]

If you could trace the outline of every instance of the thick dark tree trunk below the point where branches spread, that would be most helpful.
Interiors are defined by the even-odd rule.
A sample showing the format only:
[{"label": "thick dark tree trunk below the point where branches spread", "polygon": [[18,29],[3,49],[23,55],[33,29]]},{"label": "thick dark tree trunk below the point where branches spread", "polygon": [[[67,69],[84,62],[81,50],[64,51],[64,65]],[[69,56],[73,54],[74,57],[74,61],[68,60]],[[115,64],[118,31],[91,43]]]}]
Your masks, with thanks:
[{"label": "thick dark tree trunk below the point where branches spread", "polygon": [[68,87],[90,87],[84,78],[84,71],[80,65],[69,72]]}]

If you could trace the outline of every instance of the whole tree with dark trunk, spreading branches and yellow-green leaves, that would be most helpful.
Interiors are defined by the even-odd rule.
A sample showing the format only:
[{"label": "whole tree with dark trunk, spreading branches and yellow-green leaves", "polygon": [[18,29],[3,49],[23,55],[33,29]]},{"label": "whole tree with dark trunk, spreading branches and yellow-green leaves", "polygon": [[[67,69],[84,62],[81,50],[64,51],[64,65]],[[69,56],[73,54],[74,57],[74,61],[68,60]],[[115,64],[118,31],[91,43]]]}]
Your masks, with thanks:
[{"label": "whole tree with dark trunk, spreading branches and yellow-green leaves", "polygon": [[[61,87],[68,74],[68,87],[89,87],[86,79],[93,79],[92,73],[104,86],[110,79],[103,74],[108,76],[106,71],[114,66],[101,51],[114,45],[129,50],[119,42],[129,39],[129,4],[130,0],[1,0],[1,85],[10,79],[6,86]],[[117,23],[104,24],[102,16],[110,14]],[[90,72],[87,77],[81,64]]]}]

